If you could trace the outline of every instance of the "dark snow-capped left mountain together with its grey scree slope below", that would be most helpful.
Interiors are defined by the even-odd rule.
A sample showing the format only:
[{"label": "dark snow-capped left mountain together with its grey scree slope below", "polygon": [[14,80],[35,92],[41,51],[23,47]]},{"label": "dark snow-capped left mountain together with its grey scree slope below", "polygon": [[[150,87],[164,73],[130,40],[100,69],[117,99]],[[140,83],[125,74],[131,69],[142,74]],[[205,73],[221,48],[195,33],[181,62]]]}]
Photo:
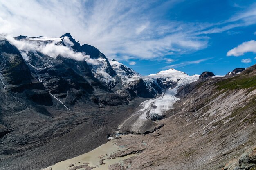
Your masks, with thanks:
[{"label": "dark snow-capped left mountain together with its grey scree slope below", "polygon": [[[85,141],[87,147],[74,154],[103,144],[141,102],[163,95],[181,75],[188,76],[141,76],[97,48],[80,45],[70,33],[6,37],[0,40],[0,55],[0,160],[9,169],[31,169],[24,159],[43,168],[67,153],[71,157]],[[149,116],[163,117],[160,112]],[[63,151],[63,145],[72,147]],[[49,152],[58,158],[41,159]]]}]

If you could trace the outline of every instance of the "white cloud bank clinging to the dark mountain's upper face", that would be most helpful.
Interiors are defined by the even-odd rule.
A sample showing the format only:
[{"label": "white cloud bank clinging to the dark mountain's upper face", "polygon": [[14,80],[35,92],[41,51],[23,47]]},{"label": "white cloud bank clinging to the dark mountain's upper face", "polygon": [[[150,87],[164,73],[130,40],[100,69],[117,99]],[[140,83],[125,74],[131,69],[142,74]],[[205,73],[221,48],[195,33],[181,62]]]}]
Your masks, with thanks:
[{"label": "white cloud bank clinging to the dark mountain's upper face", "polygon": [[7,36],[6,39],[22,52],[22,57],[24,57],[25,59],[27,57],[28,51],[38,51],[54,58],[56,58],[58,55],[61,55],[62,57],[75,59],[78,61],[82,61],[85,58],[90,57],[81,52],[74,52],[73,50],[70,50],[70,48],[66,46],[56,45],[55,44],[56,42],[52,42],[48,44],[44,44],[42,42],[38,44],[37,41],[35,42],[26,41],[26,40],[18,41],[11,36]]}]

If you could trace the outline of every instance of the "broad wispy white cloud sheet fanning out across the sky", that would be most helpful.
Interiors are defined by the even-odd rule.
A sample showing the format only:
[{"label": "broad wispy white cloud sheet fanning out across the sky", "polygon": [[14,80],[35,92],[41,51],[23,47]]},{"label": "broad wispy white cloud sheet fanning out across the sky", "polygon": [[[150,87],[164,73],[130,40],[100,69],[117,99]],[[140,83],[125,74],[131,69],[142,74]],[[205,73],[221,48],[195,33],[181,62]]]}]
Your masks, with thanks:
[{"label": "broad wispy white cloud sheet fanning out across the sky", "polygon": [[159,59],[207,48],[209,34],[256,23],[255,5],[218,23],[166,20],[166,13],[158,12],[183,1],[2,0],[0,32],[48,37],[70,32],[109,58]]}]

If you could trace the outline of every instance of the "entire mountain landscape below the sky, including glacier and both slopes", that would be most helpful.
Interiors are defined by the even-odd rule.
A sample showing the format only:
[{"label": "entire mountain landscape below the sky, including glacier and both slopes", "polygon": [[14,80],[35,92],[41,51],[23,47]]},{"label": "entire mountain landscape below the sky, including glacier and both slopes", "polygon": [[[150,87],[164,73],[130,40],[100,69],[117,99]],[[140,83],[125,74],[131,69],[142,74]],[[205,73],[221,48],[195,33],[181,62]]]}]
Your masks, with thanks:
[{"label": "entire mountain landscape below the sky, including glacier and both slopes", "polygon": [[108,139],[126,147],[110,159],[131,156],[110,169],[255,165],[256,65],[141,76],[66,33],[1,39],[0,80],[0,169],[45,168]]}]

